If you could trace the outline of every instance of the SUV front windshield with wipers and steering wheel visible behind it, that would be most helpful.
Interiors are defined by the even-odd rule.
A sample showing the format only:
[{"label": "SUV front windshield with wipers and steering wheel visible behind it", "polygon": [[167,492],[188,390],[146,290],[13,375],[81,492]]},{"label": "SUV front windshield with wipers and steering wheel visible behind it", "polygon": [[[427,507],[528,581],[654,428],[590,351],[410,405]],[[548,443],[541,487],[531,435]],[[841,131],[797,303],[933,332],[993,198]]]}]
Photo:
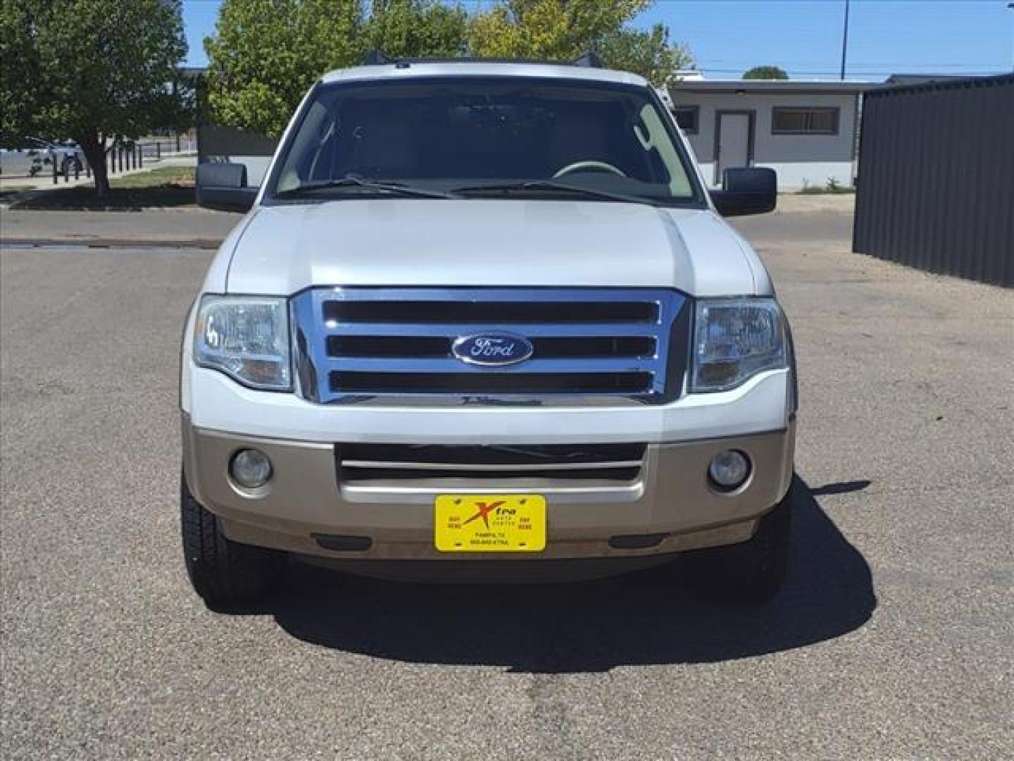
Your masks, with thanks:
[{"label": "SUV front windshield with wipers and steering wheel visible behind it", "polygon": [[[267,198],[700,200],[646,87],[533,77],[320,85]],[[425,193],[423,192],[425,191]]]}]

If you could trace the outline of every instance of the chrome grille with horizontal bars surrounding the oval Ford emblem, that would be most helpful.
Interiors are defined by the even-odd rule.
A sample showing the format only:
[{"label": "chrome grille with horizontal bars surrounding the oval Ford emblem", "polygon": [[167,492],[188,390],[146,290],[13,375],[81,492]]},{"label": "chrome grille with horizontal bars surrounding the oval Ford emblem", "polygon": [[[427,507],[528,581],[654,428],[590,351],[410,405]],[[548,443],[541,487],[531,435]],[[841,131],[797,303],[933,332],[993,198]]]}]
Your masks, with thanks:
[{"label": "chrome grille with horizontal bars surrounding the oval Ford emblem", "polygon": [[[301,393],[371,398],[662,402],[678,393],[689,339],[685,297],[613,288],[313,288],[293,298]],[[463,336],[509,330],[531,358],[458,360]]]}]

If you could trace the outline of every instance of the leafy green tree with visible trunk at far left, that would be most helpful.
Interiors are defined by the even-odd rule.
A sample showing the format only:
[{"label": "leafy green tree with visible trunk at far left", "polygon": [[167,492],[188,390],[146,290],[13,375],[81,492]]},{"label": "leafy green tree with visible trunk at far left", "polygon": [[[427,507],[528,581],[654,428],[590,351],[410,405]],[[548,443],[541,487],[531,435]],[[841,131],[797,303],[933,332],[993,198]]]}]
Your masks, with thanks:
[{"label": "leafy green tree with visible trunk at far left", "polygon": [[188,113],[178,0],[3,0],[2,133],[73,138],[108,192],[105,151]]}]

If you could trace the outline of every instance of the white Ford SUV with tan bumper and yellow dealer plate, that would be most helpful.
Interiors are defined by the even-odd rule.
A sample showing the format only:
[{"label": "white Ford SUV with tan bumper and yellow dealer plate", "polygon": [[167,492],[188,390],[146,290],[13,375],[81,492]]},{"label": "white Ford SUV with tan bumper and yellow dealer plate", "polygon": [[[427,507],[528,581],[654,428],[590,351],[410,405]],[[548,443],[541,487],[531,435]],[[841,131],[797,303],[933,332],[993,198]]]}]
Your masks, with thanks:
[{"label": "white Ford SUV with tan bumper and yellow dealer plate", "polygon": [[686,553],[785,572],[796,391],[770,277],[641,77],[399,61],[307,93],[183,342],[183,535],[211,605],[286,553],[412,579],[587,577]]}]

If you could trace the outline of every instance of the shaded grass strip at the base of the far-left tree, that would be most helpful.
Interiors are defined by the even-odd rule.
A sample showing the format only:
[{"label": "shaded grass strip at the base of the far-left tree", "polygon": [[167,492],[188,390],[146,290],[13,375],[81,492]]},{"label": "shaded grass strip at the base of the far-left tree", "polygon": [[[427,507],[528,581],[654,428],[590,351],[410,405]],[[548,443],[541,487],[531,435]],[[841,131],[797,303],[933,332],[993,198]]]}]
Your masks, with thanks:
[{"label": "shaded grass strip at the base of the far-left tree", "polygon": [[26,194],[11,209],[67,211],[133,211],[193,206],[194,167],[160,166],[151,171],[110,179],[110,195],[98,198],[91,185],[53,188]]}]

